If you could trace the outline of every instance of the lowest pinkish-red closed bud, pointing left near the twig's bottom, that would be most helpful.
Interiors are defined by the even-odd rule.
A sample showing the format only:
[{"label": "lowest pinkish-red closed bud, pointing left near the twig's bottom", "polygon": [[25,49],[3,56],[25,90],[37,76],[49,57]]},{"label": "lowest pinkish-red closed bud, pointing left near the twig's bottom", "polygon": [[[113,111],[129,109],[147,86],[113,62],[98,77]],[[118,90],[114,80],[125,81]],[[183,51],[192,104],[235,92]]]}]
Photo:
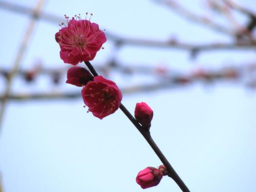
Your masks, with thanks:
[{"label": "lowest pinkish-red closed bud, pointing left near the twig's bottom", "polygon": [[136,182],[141,188],[149,188],[158,185],[163,177],[162,172],[155,167],[146,167],[141,170],[137,177]]}]

